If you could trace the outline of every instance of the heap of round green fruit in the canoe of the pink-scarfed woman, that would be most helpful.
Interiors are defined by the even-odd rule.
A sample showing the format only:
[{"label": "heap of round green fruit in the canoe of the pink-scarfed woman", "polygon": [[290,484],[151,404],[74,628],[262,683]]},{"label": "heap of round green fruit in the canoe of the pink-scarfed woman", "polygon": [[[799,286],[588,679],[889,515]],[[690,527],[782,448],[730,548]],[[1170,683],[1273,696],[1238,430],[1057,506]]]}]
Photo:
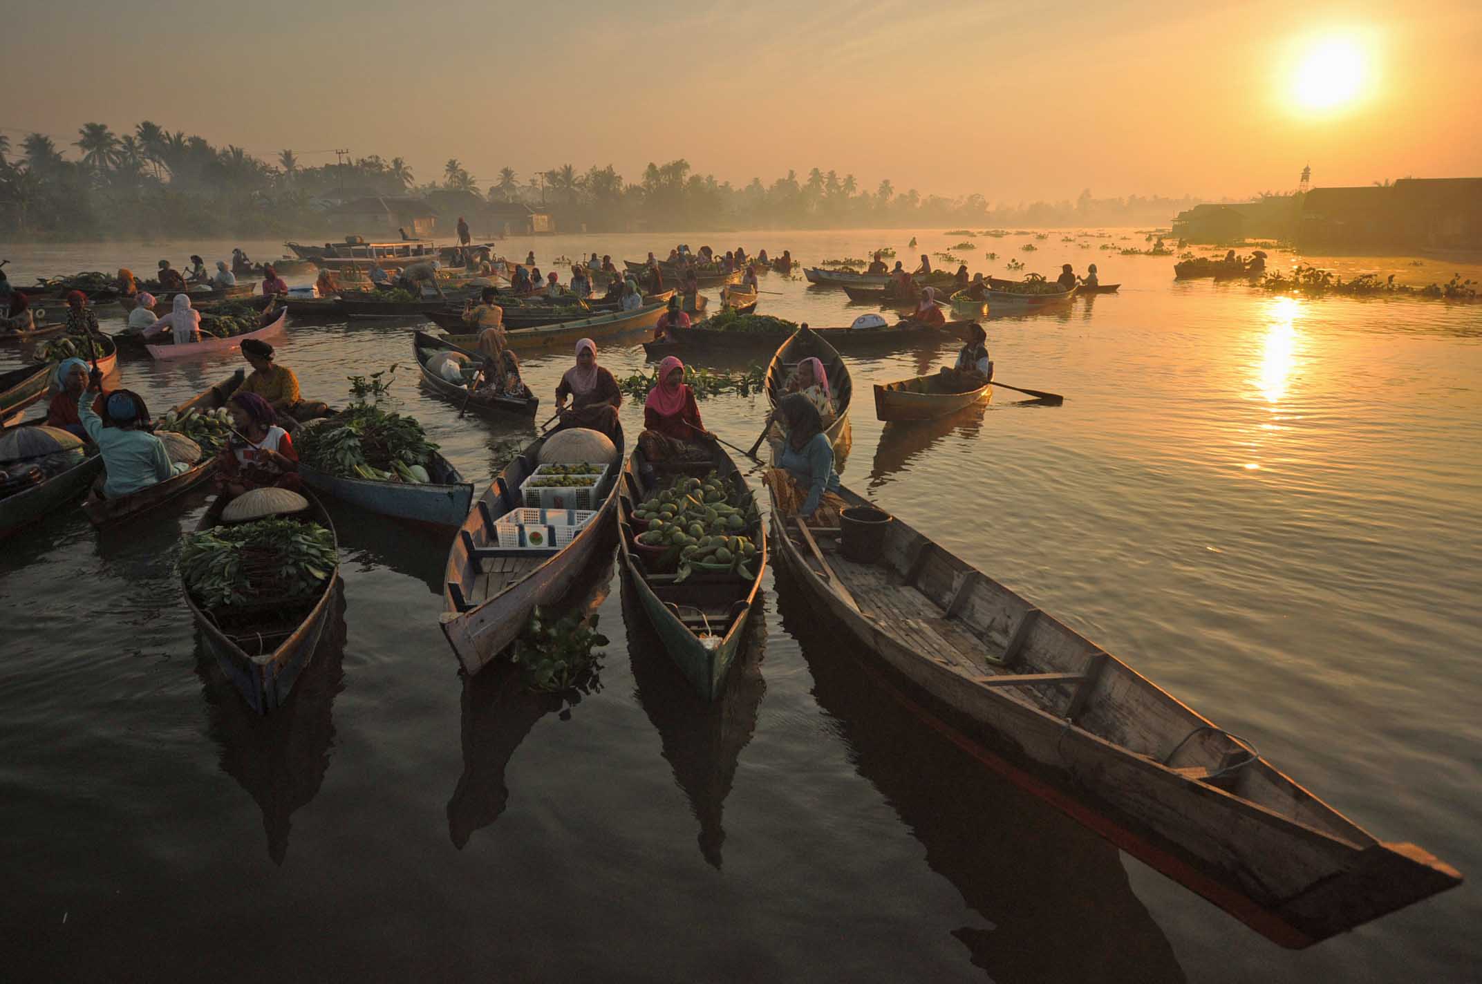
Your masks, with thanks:
[{"label": "heap of round green fruit in the canoe of the pink-scarfed woman", "polygon": [[[704,574],[735,574],[747,581],[756,576],[747,566],[757,554],[750,533],[759,529],[756,502],[742,491],[711,470],[704,479],[676,476],[633,510],[633,525],[643,532],[637,542],[645,547],[667,547],[657,569],[679,565],[674,582],[685,581],[695,571]],[[742,532],[745,531],[745,532]]]}]

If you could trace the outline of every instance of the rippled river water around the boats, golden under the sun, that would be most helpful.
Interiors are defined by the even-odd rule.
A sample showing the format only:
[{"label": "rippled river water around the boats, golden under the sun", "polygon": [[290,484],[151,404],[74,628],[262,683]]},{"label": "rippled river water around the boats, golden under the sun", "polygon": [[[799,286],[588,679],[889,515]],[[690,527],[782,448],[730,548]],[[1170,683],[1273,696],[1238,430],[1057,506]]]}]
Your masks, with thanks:
[{"label": "rippled river water around the boats, golden under the sun", "polygon": [[[917,249],[895,230],[683,239],[806,262],[963,239],[917,236]],[[502,247],[548,268],[670,239]],[[883,428],[868,382],[953,350],[851,359],[845,483],[1381,839],[1482,870],[1482,307],[1175,283],[1166,258],[1098,249],[1143,246],[1131,231],[974,240],[954,250],[974,270],[1097,262],[1123,285],[987,326],[999,378],[1064,406],[997,390],[966,416]],[[234,245],[0,256],[24,285],[210,262]],[[1322,262],[1421,283],[1478,273]],[[874,310],[802,279],[762,287],[780,292],[762,313],[814,325]],[[347,375],[400,363],[397,409],[482,483],[499,440],[531,431],[459,421],[425,393],[409,329],[292,325],[279,360],[332,403]],[[636,370],[637,341],[605,341],[600,360]],[[0,350],[0,368],[16,359]],[[163,408],[237,365],[126,357],[122,384]],[[547,403],[568,365],[526,359]],[[735,396],[701,410],[741,446],[765,415]],[[625,408],[630,434],[640,421]],[[1267,943],[928,732],[771,572],[765,625],[704,705],[611,565],[594,571],[587,600],[612,640],[602,689],[553,708],[499,671],[461,679],[437,628],[446,536],[330,504],[342,615],[293,702],[259,720],[203,655],[173,574],[203,505],[105,535],[70,508],[0,547],[10,980],[1439,981],[1482,960],[1470,885],[1306,951]]]}]

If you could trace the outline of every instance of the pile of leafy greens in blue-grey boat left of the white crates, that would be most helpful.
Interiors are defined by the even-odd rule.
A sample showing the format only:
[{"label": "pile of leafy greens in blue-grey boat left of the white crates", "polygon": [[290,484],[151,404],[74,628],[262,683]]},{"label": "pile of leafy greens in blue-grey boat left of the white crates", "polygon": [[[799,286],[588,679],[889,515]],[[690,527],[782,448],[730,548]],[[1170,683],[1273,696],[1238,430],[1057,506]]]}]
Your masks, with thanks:
[{"label": "pile of leafy greens in blue-grey boat left of the white crates", "polygon": [[437,445],[411,416],[354,405],[293,434],[299,461],[341,479],[427,483]]}]

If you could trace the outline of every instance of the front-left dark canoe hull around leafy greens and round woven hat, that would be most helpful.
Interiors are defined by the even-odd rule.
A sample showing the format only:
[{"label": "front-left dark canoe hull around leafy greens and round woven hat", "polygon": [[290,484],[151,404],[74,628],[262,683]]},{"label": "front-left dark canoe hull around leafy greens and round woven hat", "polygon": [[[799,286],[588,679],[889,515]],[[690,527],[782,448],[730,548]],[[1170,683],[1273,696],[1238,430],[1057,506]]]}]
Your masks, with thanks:
[{"label": "front-left dark canoe hull around leafy greens and round woven hat", "polygon": [[[308,489],[302,491],[308,499],[308,510],[302,514],[326,528],[330,535],[335,532],[335,522],[325,511],[325,507]],[[200,517],[197,531],[210,529],[221,525],[221,510],[225,507],[219,498],[213,499],[210,508]],[[335,539],[335,550],[339,541]],[[293,683],[299,673],[308,665],[319,645],[325,625],[329,622],[335,608],[335,593],[339,590],[339,563],[325,578],[325,587],[319,594],[304,599],[298,605],[279,605],[252,616],[237,615],[243,625],[221,624],[224,612],[207,611],[196,603],[184,578],[181,588],[185,594],[185,605],[200,627],[206,639],[206,648],[216,656],[221,671],[227,674],[252,710],[259,714],[283,707],[293,692]],[[250,621],[247,621],[250,618]],[[234,619],[236,622],[236,619]]]}]

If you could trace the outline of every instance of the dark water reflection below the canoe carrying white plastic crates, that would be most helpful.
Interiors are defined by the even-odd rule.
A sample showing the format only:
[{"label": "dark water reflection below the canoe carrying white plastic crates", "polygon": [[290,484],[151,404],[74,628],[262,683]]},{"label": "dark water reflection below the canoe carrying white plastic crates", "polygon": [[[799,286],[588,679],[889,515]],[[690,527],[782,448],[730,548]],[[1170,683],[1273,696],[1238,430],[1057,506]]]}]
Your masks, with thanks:
[{"label": "dark water reflection below the canoe carrying white plastic crates", "polygon": [[[609,545],[606,556],[594,559],[593,571],[572,587],[566,599],[544,611],[582,616],[596,612],[612,591],[615,559],[615,548]],[[458,670],[458,676],[462,679],[464,771],[448,800],[448,834],[462,851],[476,830],[504,814],[510,802],[504,771],[535,722],[576,705],[581,694],[528,691],[520,668],[502,658],[477,676],[464,670]]]}]

